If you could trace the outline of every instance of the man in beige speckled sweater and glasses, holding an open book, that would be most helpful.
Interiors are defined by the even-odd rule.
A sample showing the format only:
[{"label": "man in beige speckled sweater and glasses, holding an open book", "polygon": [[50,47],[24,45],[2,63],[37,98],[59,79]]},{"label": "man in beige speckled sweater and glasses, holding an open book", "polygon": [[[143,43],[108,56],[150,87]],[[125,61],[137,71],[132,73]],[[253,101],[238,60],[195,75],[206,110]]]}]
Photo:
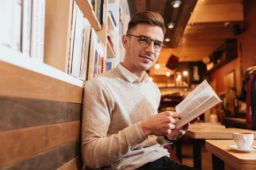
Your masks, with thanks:
[{"label": "man in beige speckled sweater and glasses, holding an open book", "polygon": [[159,14],[134,14],[127,35],[122,37],[124,61],[85,83],[81,153],[87,167],[190,169],[170,160],[163,148],[184,135],[189,123],[177,130],[179,113],[157,114],[160,91],[148,81],[145,72],[165,47],[164,34],[164,21]]}]

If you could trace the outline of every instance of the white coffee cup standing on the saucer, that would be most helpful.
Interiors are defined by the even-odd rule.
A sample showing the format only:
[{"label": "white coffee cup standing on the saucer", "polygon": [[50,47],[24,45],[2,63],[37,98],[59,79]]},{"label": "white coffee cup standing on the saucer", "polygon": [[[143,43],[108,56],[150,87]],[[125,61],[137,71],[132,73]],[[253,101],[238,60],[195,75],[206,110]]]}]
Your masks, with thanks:
[{"label": "white coffee cup standing on the saucer", "polygon": [[239,149],[250,149],[253,144],[253,133],[233,133],[233,139]]}]

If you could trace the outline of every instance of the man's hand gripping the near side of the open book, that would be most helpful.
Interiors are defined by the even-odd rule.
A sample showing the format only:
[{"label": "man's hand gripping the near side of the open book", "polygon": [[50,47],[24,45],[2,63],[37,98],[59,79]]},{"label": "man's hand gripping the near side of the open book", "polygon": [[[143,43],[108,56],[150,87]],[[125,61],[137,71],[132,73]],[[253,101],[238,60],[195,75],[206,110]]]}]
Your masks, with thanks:
[{"label": "man's hand gripping the near side of the open book", "polygon": [[148,119],[141,121],[142,130],[146,137],[148,135],[166,136],[175,129],[177,119],[181,119],[180,113],[165,111],[157,115],[150,116]]}]

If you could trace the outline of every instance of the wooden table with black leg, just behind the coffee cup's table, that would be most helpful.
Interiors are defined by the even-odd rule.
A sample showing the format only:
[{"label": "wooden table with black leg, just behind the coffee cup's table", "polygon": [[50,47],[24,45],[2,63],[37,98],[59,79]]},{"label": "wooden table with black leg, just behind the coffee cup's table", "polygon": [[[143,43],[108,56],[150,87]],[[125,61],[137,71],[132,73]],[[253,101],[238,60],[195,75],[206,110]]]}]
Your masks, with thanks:
[{"label": "wooden table with black leg, just behind the coffee cup's table", "polygon": [[239,129],[239,128],[190,128],[186,135],[193,138],[193,159],[194,167],[201,170],[201,140],[202,139],[233,139],[232,133],[254,133],[256,139],[256,131]]}]

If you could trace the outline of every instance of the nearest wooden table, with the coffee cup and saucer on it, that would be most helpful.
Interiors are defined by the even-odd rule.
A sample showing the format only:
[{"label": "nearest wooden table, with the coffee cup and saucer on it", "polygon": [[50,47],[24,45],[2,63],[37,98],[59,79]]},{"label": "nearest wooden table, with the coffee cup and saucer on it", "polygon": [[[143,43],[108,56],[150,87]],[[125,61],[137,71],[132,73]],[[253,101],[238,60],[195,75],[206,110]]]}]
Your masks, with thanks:
[{"label": "nearest wooden table, with the coffee cup and saucer on it", "polygon": [[[227,148],[234,140],[206,140],[205,147],[212,153],[212,170],[224,170],[224,162],[236,170],[256,170],[256,151],[239,153]],[[253,141],[256,145],[256,140]]]}]

